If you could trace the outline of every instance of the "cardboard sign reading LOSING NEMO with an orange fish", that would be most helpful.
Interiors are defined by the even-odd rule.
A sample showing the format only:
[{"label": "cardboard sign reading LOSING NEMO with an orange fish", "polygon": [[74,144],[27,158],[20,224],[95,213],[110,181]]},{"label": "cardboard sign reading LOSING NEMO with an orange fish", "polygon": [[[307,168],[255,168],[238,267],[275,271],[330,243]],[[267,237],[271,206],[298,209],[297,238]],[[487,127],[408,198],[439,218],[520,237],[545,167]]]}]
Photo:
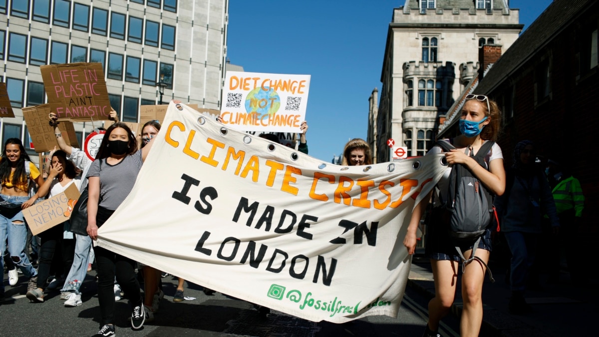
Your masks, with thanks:
[{"label": "cardboard sign reading LOSING NEMO with an orange fish", "polygon": [[64,192],[23,209],[23,216],[34,235],[62,224],[71,218],[72,208],[79,198],[77,185],[71,183]]}]

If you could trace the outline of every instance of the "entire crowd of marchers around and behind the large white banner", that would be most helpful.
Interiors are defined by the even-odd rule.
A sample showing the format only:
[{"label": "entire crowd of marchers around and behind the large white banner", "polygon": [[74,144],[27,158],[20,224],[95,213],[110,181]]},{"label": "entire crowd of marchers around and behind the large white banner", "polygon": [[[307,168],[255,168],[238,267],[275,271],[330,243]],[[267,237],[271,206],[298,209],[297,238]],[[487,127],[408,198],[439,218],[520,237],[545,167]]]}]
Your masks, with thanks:
[{"label": "entire crowd of marchers around and behind the large white banner", "polygon": [[[176,103],[179,103],[178,101]],[[128,125],[118,121],[105,130],[95,160],[62,138],[56,116],[50,114],[59,149],[46,160],[47,170],[40,172],[32,163],[19,139],[4,143],[0,159],[0,267],[8,272],[9,284],[16,285],[19,273],[29,281],[26,297],[32,302],[44,302],[44,292],[62,283],[60,299],[65,306],[81,305],[80,287],[90,271],[96,268],[101,326],[95,336],[113,336],[114,303],[126,296],[131,303],[131,325],[139,329],[159,310],[164,297],[161,289],[161,271],[139,264],[128,257],[99,246],[92,247],[98,237],[98,228],[107,221],[125,200],[134,186],[137,175],[152,149],[153,139],[161,129],[159,121],[143,125],[139,137]],[[409,254],[415,253],[420,219],[425,213],[439,209],[449,197],[450,173],[453,167],[465,167],[489,194],[495,196],[494,206],[501,227],[501,238],[509,247],[509,282],[512,298],[509,310],[522,314],[531,310],[525,302],[527,282],[534,279],[534,267],[539,237],[552,233],[552,244],[559,246],[576,234],[582,216],[584,197],[580,182],[567,168],[555,160],[543,161],[536,153],[536,145],[523,140],[513,149],[512,166],[504,169],[504,156],[494,141],[500,131],[501,112],[497,104],[484,95],[468,95],[459,121],[461,135],[447,139],[455,149],[443,151],[435,145],[427,155],[444,154],[447,168],[437,188],[416,205],[404,238]],[[301,124],[298,150],[308,153],[305,133],[307,123]],[[272,134],[261,137],[279,142]],[[138,146],[139,143],[139,146]],[[485,146],[488,145],[488,146]],[[474,157],[480,149],[482,162]],[[343,150],[342,165],[371,165],[372,154],[368,143],[352,139]],[[50,198],[71,185],[80,191],[87,188],[87,236],[69,231],[68,221],[32,236],[23,218],[22,209],[32,206],[41,198]],[[478,186],[478,185],[477,185]],[[478,187],[477,187],[478,188]],[[429,202],[432,199],[432,207]],[[431,210],[432,209],[432,210]],[[435,297],[429,302],[429,317],[424,336],[438,336],[440,320],[449,313],[455,300],[455,287],[462,262],[461,336],[478,336],[483,315],[482,286],[487,263],[494,246],[494,227],[483,226],[477,237],[470,241],[455,242],[449,235],[445,221],[426,222],[425,249],[431,259],[435,282]],[[495,222],[493,222],[495,224]],[[29,234],[28,234],[29,232]],[[557,235],[559,233],[559,235]],[[29,247],[31,245],[31,248]],[[573,278],[582,278],[572,249],[566,249],[567,263]],[[556,281],[559,272],[559,250],[544,256],[550,260],[550,279]],[[37,266],[37,267],[36,267]],[[135,270],[142,270],[144,289],[141,290]],[[489,271],[490,273],[490,271]],[[49,284],[50,282],[50,284]],[[184,299],[184,279],[179,278],[173,300]],[[211,291],[206,289],[205,291]],[[4,296],[4,284],[0,285]],[[262,315],[270,309],[259,307]]]}]

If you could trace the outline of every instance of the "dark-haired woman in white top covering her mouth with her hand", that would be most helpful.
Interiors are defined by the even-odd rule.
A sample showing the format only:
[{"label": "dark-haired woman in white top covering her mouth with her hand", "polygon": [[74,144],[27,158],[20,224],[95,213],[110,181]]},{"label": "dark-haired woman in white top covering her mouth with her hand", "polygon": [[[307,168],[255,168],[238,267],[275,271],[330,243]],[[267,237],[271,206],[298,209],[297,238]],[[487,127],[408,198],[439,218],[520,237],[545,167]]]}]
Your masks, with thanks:
[{"label": "dark-haired woman in white top covering her mouth with her hand", "polygon": [[[37,195],[54,197],[64,192],[69,186],[74,184],[79,188],[81,178],[77,176],[75,166],[69,160],[66,160],[66,153],[62,150],[52,154],[50,162],[50,173],[48,179],[38,188]],[[62,267],[64,275],[68,275],[75,255],[75,239],[73,234],[68,231],[68,221],[49,228],[39,234],[40,245],[40,265],[38,266],[37,288],[31,289],[26,296],[33,302],[44,302],[44,288],[46,280],[50,275],[50,266],[59,247],[62,252]],[[59,273],[57,272],[57,276]]]}]

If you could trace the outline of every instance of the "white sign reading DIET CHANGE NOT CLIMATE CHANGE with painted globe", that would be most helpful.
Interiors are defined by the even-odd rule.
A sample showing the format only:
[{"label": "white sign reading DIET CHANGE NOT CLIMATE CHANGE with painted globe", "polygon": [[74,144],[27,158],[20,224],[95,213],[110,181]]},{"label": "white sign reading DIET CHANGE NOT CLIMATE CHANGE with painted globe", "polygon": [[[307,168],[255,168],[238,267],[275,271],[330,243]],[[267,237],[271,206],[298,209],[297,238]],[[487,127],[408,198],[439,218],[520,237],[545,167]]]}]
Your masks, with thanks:
[{"label": "white sign reading DIET CHANGE NOT CLIMATE CHANGE with painted globe", "polygon": [[309,86],[310,75],[227,71],[220,117],[241,131],[298,133]]}]

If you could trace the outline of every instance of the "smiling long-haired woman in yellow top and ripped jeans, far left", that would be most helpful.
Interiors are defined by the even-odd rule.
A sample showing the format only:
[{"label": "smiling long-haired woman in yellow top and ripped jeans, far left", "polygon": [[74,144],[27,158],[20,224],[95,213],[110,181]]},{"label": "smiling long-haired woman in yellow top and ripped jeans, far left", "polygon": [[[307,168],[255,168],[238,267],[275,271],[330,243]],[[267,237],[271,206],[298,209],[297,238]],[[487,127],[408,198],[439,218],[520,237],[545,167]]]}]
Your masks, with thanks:
[{"label": "smiling long-haired woman in yellow top and ripped jeans, far left", "polygon": [[[28,290],[36,287],[37,270],[29,262],[25,254],[27,227],[22,209],[37,200],[37,194],[29,197],[30,180],[41,186],[44,178],[40,170],[31,163],[29,155],[18,138],[9,138],[4,143],[4,151],[0,158],[0,252],[5,251],[8,240],[8,252],[11,260],[19,267],[23,275],[29,278]],[[0,270],[4,269],[4,261],[0,258]],[[14,270],[16,273],[16,270]],[[4,294],[4,284],[0,284],[0,295]]]}]

